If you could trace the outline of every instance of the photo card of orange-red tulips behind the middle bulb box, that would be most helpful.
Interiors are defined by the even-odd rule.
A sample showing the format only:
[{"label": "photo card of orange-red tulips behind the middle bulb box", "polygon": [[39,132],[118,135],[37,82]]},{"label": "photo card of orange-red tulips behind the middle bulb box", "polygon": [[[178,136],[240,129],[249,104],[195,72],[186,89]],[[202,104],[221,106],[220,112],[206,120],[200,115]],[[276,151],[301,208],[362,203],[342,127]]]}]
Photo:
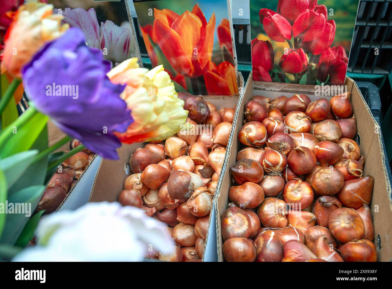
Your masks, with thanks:
[{"label": "photo card of orange-red tulips behind the middle bulb box", "polygon": [[227,0],[134,0],[152,67],[163,64],[177,91],[236,95]]}]

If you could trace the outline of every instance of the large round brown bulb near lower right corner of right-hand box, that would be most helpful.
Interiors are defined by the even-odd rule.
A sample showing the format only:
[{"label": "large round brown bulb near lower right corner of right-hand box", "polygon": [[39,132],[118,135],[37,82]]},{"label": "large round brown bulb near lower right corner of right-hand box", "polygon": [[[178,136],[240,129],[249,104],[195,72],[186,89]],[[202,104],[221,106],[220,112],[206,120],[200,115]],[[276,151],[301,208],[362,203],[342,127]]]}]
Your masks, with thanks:
[{"label": "large round brown bulb near lower right corner of right-hand box", "polygon": [[331,212],[328,227],[332,235],[342,243],[360,240],[365,236],[365,225],[361,216],[349,208],[339,208]]}]

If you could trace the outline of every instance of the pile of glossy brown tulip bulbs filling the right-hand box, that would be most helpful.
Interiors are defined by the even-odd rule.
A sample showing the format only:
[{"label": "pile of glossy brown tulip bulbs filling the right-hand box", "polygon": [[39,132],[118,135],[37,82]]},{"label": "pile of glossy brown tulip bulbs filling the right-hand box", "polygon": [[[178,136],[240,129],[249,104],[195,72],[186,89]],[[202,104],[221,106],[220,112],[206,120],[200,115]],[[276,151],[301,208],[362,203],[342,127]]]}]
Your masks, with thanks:
[{"label": "pile of glossy brown tulip bulbs filling the right-hand box", "polygon": [[353,141],[350,93],[245,104],[242,148],[221,217],[229,262],[377,260],[369,204],[374,178]]}]

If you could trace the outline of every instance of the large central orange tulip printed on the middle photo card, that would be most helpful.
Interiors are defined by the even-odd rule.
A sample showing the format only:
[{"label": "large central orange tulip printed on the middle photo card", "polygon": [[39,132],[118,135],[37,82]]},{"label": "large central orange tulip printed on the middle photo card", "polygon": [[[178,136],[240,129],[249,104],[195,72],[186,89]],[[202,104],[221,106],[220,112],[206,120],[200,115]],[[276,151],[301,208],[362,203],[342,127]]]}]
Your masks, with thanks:
[{"label": "large central orange tulip printed on the middle photo card", "polygon": [[157,43],[174,70],[186,77],[200,77],[211,61],[215,13],[207,23],[198,4],[192,12],[187,10],[178,17],[176,13],[164,10],[154,10]]}]

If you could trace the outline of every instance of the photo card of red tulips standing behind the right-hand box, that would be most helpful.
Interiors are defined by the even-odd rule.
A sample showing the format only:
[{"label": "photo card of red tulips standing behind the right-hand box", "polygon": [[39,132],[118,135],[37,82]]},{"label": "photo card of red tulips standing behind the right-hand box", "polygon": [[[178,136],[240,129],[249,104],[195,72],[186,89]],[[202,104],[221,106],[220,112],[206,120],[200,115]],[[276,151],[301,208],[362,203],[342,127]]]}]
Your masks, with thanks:
[{"label": "photo card of red tulips standing behind the right-hand box", "polygon": [[256,81],[345,82],[358,0],[250,1]]}]

